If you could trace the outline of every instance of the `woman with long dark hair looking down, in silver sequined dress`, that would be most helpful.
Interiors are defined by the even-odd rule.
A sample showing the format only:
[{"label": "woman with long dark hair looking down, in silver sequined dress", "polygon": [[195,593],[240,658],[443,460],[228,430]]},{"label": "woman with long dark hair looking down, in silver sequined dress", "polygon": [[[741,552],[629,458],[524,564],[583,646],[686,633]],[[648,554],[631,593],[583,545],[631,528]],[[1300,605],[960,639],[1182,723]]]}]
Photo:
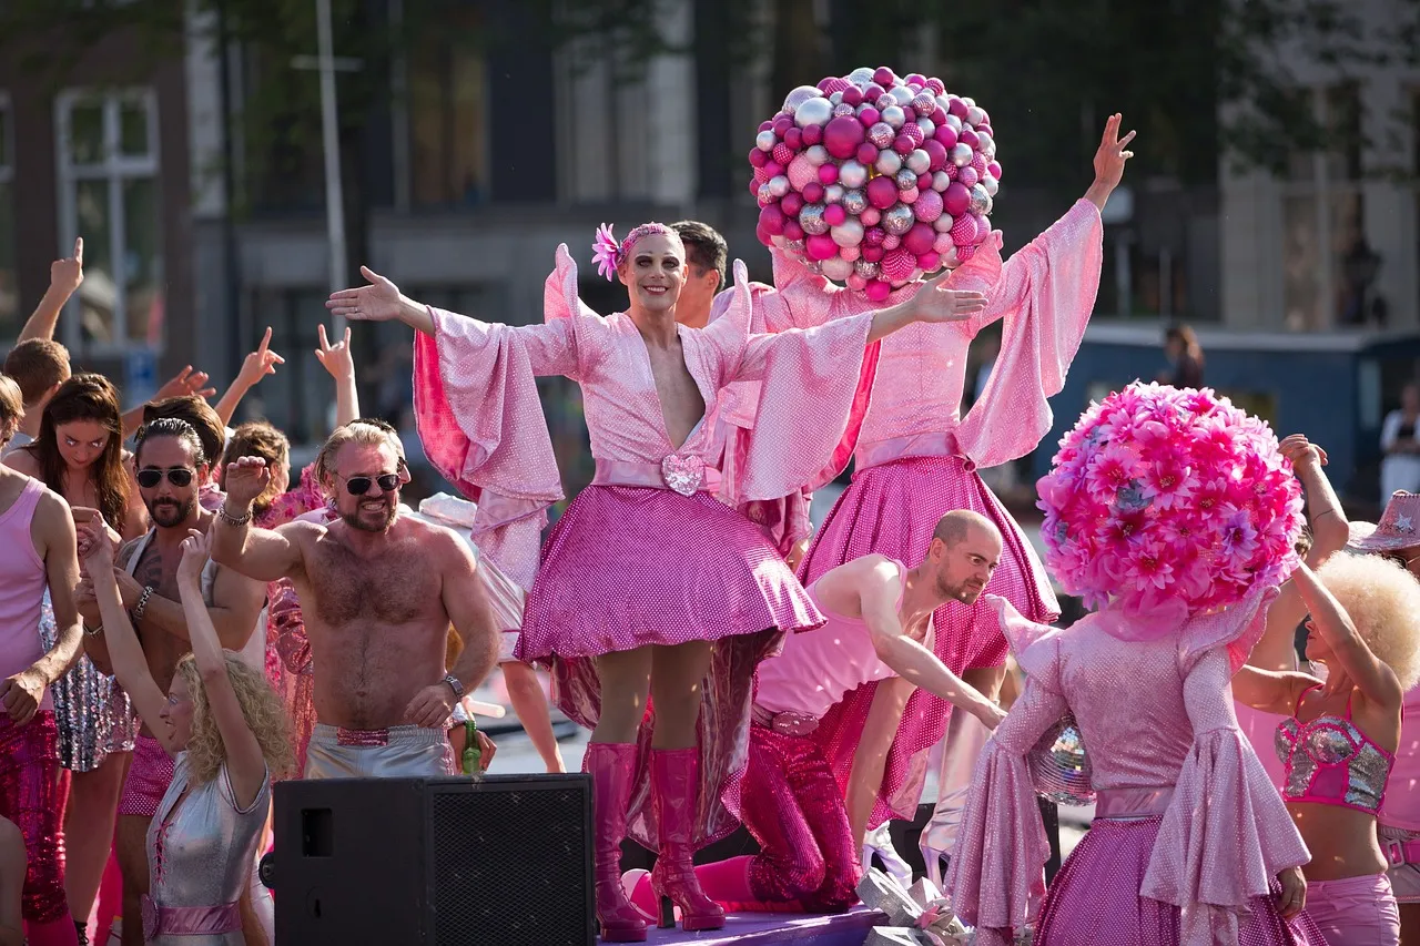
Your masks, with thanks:
[{"label": "woman with long dark hair looking down, in silver sequined dress", "polygon": [[[44,408],[38,436],[4,462],[48,486],[70,506],[98,510],[115,538],[133,538],[146,528],[143,501],[124,469],[118,391],[102,375],[80,374],[60,385]],[[54,643],[48,594],[38,634],[45,648]],[[84,655],[55,682],[53,693],[60,763],[72,773],[64,815],[64,889],[75,919],[87,919],[108,864],[136,727],[124,690]]]}]

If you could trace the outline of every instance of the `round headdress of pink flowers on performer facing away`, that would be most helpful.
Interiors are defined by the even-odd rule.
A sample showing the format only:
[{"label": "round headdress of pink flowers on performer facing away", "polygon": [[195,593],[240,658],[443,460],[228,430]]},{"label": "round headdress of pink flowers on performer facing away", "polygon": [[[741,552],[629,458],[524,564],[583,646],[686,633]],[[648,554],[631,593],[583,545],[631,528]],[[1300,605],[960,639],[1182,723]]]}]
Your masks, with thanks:
[{"label": "round headdress of pink flowers on performer facing away", "polygon": [[1045,561],[1086,607],[1201,614],[1296,567],[1296,477],[1268,425],[1213,391],[1135,382],[1092,403],[1052,463]]}]

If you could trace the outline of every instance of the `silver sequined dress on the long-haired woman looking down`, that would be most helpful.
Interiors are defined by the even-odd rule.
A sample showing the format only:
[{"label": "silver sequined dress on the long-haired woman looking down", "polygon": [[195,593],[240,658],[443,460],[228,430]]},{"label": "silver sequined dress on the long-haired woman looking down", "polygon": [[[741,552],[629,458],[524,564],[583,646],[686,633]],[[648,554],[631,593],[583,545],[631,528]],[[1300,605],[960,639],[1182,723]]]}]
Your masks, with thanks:
[{"label": "silver sequined dress on the long-haired woman looking down", "polygon": [[[40,645],[54,646],[54,608],[44,592],[40,614]],[[60,764],[70,771],[94,771],[111,753],[133,750],[138,717],[128,693],[112,676],[101,673],[88,655],[81,653],[74,668],[50,687],[54,697],[54,722],[60,730]]]}]

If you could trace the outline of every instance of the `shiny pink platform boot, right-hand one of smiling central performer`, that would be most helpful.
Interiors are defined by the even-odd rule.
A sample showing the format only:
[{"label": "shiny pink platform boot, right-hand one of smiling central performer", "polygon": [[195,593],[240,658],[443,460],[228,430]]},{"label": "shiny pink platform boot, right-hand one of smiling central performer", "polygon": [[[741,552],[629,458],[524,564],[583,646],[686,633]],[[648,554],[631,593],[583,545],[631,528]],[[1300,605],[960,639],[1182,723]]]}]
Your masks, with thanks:
[{"label": "shiny pink platform boot, right-hand one of smiling central performer", "polygon": [[[660,851],[650,872],[650,886],[660,898],[660,925],[674,926],[670,905],[680,908],[680,928],[687,932],[720,929],[724,909],[704,895],[696,869],[694,818],[700,793],[699,749],[656,749],[650,753],[650,785],[656,795],[656,830]],[[618,884],[619,885],[619,884]]]}]

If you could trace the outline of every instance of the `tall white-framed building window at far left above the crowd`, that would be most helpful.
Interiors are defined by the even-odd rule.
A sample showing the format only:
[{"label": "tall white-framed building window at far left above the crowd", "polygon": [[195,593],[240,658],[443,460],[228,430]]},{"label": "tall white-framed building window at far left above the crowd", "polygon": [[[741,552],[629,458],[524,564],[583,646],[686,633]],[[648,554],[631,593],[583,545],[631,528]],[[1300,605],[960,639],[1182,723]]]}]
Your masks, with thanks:
[{"label": "tall white-framed building window at far left above the crowd", "polygon": [[158,99],[151,89],[64,92],[55,102],[60,246],[84,237],[84,286],[65,341],[102,354],[163,344]]}]

